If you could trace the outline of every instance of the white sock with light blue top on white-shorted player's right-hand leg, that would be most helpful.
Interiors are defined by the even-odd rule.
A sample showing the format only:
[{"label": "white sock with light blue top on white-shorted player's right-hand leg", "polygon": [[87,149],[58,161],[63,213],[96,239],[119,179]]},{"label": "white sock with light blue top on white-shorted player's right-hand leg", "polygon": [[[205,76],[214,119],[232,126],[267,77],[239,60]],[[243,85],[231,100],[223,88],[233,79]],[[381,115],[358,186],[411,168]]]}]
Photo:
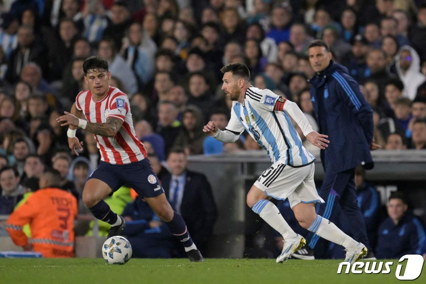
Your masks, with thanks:
[{"label": "white sock with light blue top on white-shorted player's right-hand leg", "polygon": [[358,244],[357,241],[346,235],[341,229],[337,228],[336,225],[327,219],[322,218],[320,215],[317,215],[317,218],[315,218],[311,227],[308,228],[308,231],[314,232],[321,238],[325,238],[335,244],[340,244],[345,248],[356,246]]}]

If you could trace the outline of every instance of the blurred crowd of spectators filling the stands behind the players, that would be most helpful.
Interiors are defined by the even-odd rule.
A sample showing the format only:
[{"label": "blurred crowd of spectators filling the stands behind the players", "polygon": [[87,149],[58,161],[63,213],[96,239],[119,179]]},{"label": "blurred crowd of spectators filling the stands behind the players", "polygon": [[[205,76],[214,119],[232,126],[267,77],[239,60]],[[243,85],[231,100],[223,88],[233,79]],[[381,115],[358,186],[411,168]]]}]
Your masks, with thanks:
[{"label": "blurred crowd of spectators filling the stands behind the players", "polygon": [[[60,183],[55,186],[74,195],[78,212],[86,212],[82,190],[98,165],[100,153],[94,136],[80,129],[77,136],[84,141],[84,150],[78,157],[71,155],[66,128],[56,118],[69,111],[76,95],[87,89],[83,61],[91,55],[108,61],[110,85],[128,95],[135,132],[147,149],[155,173],[168,185],[165,190],[170,203],[182,213],[190,231],[190,226],[203,231],[199,236],[191,231],[201,252],[213,230],[216,206],[204,176],[187,171],[181,180],[186,156],[260,149],[249,135],[241,135],[238,143],[224,144],[202,132],[209,120],[222,130],[229,120],[232,103],[221,90],[220,72],[228,63],[247,64],[253,86],[298,103],[318,130],[308,80],[314,71],[307,48],[312,40],[322,39],[330,47],[333,60],[348,68],[371,105],[376,143],[386,150],[426,149],[426,2],[0,3],[0,215],[11,214],[37,191],[38,179],[46,169],[59,172]],[[317,154],[309,141],[305,142],[305,147]],[[190,175],[193,178],[188,179]],[[363,176],[362,170],[358,175]],[[181,184],[185,178],[187,184],[191,181],[188,192],[192,193],[178,195],[179,190],[187,190]],[[363,180],[357,186],[362,188],[359,204],[370,226],[371,242],[375,244],[377,238],[383,242],[375,246],[377,257],[425,252],[423,227],[407,211],[403,196],[393,198],[400,201],[394,205],[400,211],[392,215],[388,205],[390,219],[379,218],[374,210],[380,204],[371,204],[380,200],[374,186]],[[129,221],[127,233],[134,236],[134,242],[139,247],[153,248],[154,244],[140,240],[154,238],[156,246],[173,246],[167,228],[146,204],[135,199],[130,189],[123,188],[122,194],[114,194],[109,204]],[[393,204],[391,200],[389,204]],[[138,210],[141,214],[136,217]],[[204,216],[202,224],[191,224],[189,219],[194,214]],[[106,235],[106,223],[105,227],[102,230],[101,225],[101,233]],[[3,223],[3,234],[7,234],[4,228]],[[410,245],[393,251],[389,243],[403,236],[411,238]],[[174,255],[171,250],[153,250],[158,255],[143,255],[147,249],[140,251],[141,257]]]}]

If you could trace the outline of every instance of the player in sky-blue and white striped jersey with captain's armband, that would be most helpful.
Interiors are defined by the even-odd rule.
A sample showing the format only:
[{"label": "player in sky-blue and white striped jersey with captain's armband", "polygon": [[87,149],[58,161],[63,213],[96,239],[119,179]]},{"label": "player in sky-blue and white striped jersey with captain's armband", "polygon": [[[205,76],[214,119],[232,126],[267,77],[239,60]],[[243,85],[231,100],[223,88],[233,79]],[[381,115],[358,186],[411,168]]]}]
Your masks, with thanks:
[{"label": "player in sky-blue and white striped jersey with captain's armband", "polygon": [[219,141],[230,143],[247,131],[268,152],[272,165],[259,176],[247,195],[247,205],[284,238],[277,263],[287,260],[306,244],[296,234],[269,200],[288,198],[300,226],[346,249],[345,261],[354,263],[367,253],[366,247],[346,235],[336,225],[315,212],[315,203],[324,203],[314,183],[314,161],[303,146],[291,118],[303,135],[320,149],[328,147],[327,135],[312,130],[296,103],[271,90],[250,85],[250,72],[242,63],[231,63],[221,69],[222,90],[233,101],[231,119],[225,130],[212,121],[203,131]]}]

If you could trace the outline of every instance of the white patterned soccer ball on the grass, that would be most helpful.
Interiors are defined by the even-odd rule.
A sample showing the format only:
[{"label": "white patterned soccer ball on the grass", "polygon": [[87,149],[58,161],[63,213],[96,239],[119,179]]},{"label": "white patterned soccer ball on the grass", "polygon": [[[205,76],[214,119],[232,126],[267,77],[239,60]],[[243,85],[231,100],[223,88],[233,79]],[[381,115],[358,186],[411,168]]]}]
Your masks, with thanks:
[{"label": "white patterned soccer ball on the grass", "polygon": [[109,264],[125,264],[132,257],[132,246],[126,238],[114,236],[104,242],[102,255]]}]

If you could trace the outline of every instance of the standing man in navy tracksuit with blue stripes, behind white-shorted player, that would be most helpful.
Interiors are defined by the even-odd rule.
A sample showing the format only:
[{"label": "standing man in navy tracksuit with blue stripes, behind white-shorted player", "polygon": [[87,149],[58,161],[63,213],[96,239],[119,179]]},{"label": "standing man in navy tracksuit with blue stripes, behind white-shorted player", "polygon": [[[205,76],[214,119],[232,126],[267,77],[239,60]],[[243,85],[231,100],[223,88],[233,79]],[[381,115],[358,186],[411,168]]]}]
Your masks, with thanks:
[{"label": "standing man in navy tracksuit with blue stripes, behind white-shorted player", "polygon": [[[322,40],[314,40],[308,48],[309,61],[316,72],[310,80],[311,101],[320,132],[328,135],[328,148],[321,150],[325,170],[320,196],[326,201],[320,206],[319,215],[336,220],[334,204],[340,202],[345,212],[352,237],[363,243],[371,255],[363,213],[357,203],[354,169],[373,168],[370,149],[380,148],[373,141],[373,111],[360,92],[358,83],[348,74],[346,67],[331,60],[331,52]],[[336,200],[337,198],[337,200]],[[315,248],[315,255],[325,254],[328,245],[318,235],[310,233],[308,247]],[[312,252],[295,258],[314,259]]]}]

